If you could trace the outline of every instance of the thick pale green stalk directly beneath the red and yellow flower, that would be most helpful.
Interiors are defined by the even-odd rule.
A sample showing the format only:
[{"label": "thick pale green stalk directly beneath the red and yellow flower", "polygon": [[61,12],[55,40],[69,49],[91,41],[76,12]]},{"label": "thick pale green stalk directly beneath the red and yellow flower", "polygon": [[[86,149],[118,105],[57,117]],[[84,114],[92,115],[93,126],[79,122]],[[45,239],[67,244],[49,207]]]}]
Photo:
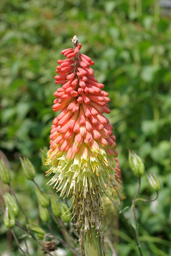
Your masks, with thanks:
[{"label": "thick pale green stalk directly beneath the red and yellow flower", "polygon": [[93,227],[90,227],[90,233],[88,231],[85,233],[84,250],[85,256],[102,256],[100,238],[97,235],[97,231]]}]

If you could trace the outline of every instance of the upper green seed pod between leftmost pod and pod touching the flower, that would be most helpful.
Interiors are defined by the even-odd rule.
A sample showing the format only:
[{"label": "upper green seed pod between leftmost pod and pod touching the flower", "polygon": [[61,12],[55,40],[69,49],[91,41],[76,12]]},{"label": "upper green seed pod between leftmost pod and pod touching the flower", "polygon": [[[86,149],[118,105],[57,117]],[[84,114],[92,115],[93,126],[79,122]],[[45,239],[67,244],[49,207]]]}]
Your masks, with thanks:
[{"label": "upper green seed pod between leftmost pod and pod touching the flower", "polygon": [[32,180],[36,175],[34,166],[32,165],[32,163],[27,157],[26,158],[24,157],[23,159],[20,157],[20,161],[21,161],[21,167],[25,177],[28,180]]}]

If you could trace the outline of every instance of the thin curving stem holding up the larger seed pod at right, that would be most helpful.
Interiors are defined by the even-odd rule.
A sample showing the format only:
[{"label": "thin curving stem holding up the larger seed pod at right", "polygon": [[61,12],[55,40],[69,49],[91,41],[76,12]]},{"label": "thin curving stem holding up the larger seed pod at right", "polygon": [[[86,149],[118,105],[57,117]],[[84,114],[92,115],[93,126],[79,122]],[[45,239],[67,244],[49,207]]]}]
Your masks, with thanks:
[{"label": "thin curving stem holding up the larger seed pod at right", "polygon": [[138,196],[138,193],[140,191],[140,186],[141,186],[141,177],[139,178],[139,185],[138,185],[138,190],[135,194],[135,197],[132,201],[132,210],[133,210],[133,215],[134,215],[134,220],[135,220],[135,237],[136,237],[136,241],[137,241],[137,244],[138,244],[138,250],[140,252],[140,255],[143,256],[143,253],[142,253],[142,249],[141,249],[141,243],[140,243],[140,239],[139,239],[139,231],[138,231],[138,221],[137,221],[137,216],[136,216],[136,213],[135,213],[135,202],[136,202],[136,197]]}]

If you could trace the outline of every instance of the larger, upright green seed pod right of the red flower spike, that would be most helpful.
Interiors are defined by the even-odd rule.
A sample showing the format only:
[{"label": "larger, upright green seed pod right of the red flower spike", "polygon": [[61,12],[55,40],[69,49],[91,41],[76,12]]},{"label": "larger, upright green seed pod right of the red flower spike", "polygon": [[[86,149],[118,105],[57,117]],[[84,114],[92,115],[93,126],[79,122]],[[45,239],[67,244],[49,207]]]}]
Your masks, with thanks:
[{"label": "larger, upright green seed pod right of the red flower spike", "polygon": [[140,178],[145,172],[144,163],[142,159],[133,151],[129,150],[128,160],[129,160],[129,166],[133,171],[133,174],[136,177]]}]

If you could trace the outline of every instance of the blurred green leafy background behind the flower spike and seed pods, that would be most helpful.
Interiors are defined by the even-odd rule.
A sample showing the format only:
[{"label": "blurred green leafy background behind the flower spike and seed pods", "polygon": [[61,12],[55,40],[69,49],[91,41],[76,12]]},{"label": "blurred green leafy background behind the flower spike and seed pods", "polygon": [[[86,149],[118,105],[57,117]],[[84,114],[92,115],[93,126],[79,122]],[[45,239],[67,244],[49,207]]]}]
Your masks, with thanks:
[{"label": "blurred green leafy background behind the flower spike and seed pods", "polygon": [[[0,1],[0,149],[10,162],[16,194],[21,203],[27,201],[30,218],[38,218],[33,188],[23,178],[19,155],[29,157],[39,184],[45,186],[39,149],[49,147],[56,116],[52,105],[57,60],[63,58],[61,50],[73,47],[75,34],[81,52],[95,62],[95,78],[105,85],[111,99],[107,118],[116,136],[124,206],[131,205],[137,189],[128,149],[141,156],[146,171],[157,174],[162,185],[157,201],[138,203],[144,255],[171,255],[169,0]],[[2,195],[7,187],[2,185],[0,190]],[[141,197],[155,197],[145,176]],[[130,209],[125,216],[131,221]],[[9,248],[9,255],[21,255],[3,224],[3,215],[0,221],[0,253],[5,255]],[[131,254],[124,223],[118,226],[118,255],[137,255]]]}]

